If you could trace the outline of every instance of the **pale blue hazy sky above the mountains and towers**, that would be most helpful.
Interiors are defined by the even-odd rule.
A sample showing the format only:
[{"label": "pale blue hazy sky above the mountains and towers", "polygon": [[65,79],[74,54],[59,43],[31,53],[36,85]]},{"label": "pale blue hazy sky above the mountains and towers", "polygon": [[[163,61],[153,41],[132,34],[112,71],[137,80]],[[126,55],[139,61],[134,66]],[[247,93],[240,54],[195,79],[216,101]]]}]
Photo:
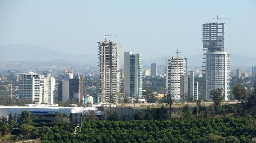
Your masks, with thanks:
[{"label": "pale blue hazy sky above the mountains and towers", "polygon": [[226,51],[256,56],[256,0],[0,0],[0,45],[30,44],[97,56],[116,34],[121,51],[144,59],[202,53],[201,23],[226,23]]}]

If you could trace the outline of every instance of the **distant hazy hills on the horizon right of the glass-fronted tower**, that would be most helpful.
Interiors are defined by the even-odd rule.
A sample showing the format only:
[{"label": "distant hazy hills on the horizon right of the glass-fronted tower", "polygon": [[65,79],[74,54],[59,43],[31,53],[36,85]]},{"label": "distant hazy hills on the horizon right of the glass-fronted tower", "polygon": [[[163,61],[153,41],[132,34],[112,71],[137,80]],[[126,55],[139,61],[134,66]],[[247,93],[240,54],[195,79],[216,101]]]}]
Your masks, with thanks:
[{"label": "distant hazy hills on the horizon right of the glass-fronted tower", "polygon": [[[158,65],[165,65],[166,58],[170,56],[161,56],[155,59],[143,60],[143,64],[150,65],[151,63],[157,63]],[[186,57],[188,59],[188,66],[199,67],[202,66],[202,54]],[[256,57],[241,56],[235,53],[231,53],[231,66],[238,67],[250,67],[256,64]]]}]

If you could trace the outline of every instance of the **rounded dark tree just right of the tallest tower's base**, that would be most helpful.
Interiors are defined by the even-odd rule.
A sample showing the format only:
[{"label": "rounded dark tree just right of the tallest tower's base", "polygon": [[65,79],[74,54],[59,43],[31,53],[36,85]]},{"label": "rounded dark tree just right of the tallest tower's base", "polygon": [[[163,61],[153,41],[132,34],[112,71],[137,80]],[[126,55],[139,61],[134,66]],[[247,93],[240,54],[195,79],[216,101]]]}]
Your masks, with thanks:
[{"label": "rounded dark tree just right of the tallest tower's base", "polygon": [[247,98],[247,91],[245,89],[245,87],[242,86],[241,83],[237,84],[232,93],[234,94],[235,98],[238,100],[238,101],[244,101],[246,100]]}]

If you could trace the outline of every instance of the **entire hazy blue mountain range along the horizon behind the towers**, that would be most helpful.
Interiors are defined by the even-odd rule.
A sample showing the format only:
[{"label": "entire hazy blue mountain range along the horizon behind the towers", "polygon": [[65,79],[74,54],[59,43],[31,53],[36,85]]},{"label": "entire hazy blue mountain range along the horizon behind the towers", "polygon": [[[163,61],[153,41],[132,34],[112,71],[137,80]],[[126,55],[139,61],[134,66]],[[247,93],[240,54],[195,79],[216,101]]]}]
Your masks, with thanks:
[{"label": "entire hazy blue mountain range along the horizon behind the towers", "polygon": [[[142,55],[143,56],[143,55]],[[156,63],[157,65],[165,65],[166,58],[170,56],[161,56],[155,59],[143,59],[144,65]],[[199,67],[202,66],[202,54],[186,57],[188,66]],[[46,48],[24,45],[24,44],[10,44],[0,46],[0,61],[53,61],[53,60],[67,60],[73,62],[84,62],[89,65],[97,64],[97,55],[89,54],[67,54]],[[123,59],[121,59],[123,63]],[[231,66],[250,67],[255,65],[256,57],[241,56],[236,53],[231,53]]]}]

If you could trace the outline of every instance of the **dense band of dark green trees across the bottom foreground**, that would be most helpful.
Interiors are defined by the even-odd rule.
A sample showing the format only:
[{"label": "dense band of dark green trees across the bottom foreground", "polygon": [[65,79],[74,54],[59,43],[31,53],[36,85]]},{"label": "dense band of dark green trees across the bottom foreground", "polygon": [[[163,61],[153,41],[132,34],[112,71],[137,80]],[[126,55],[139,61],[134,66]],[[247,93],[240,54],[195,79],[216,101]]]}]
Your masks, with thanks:
[{"label": "dense band of dark green trees across the bottom foreground", "polygon": [[36,126],[48,127],[42,143],[249,143],[256,136],[256,118],[250,117],[92,121],[77,134],[68,124]]}]

